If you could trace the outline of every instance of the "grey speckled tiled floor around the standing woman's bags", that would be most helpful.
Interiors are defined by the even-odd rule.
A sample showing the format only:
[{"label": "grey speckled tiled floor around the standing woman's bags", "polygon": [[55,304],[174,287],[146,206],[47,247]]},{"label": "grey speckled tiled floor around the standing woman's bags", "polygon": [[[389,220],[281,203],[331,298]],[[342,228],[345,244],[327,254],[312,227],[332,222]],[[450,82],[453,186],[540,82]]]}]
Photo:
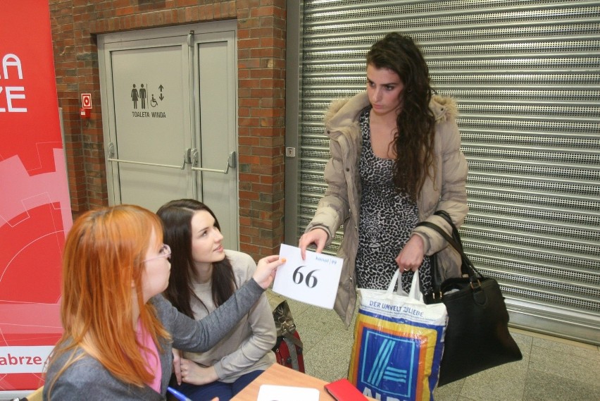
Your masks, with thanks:
[{"label": "grey speckled tiled floor around the standing woman's bags", "polygon": [[[273,307],[285,300],[270,290],[268,297]],[[304,343],[306,373],[325,381],[346,377],[354,321],[346,329],[334,311],[288,304]],[[435,400],[600,400],[599,347],[512,328],[511,333],[523,360],[444,385],[435,390]]]}]

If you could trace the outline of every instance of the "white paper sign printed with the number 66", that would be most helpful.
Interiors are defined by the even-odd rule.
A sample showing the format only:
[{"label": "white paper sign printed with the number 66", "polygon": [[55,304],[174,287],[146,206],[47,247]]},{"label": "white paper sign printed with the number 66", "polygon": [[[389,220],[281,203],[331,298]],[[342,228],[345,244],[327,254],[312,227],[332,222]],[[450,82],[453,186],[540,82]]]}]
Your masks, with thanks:
[{"label": "white paper sign printed with the number 66", "polygon": [[333,309],[344,259],[306,251],[302,260],[299,247],[282,244],[280,258],[287,261],[277,268],[273,291],[292,300]]}]

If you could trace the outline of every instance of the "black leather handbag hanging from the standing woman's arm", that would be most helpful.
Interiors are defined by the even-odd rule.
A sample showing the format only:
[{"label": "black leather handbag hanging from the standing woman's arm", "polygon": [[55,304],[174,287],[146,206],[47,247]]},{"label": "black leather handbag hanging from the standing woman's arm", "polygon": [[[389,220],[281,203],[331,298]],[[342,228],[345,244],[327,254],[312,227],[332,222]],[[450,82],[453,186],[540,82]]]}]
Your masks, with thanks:
[{"label": "black leather handbag hanging from the standing woman's arm", "polygon": [[436,230],[461,255],[462,277],[440,283],[442,274],[432,255],[432,295],[425,302],[444,302],[448,326],[438,386],[460,380],[479,371],[523,359],[508,332],[508,311],[504,296],[494,278],[483,276],[463,251],[461,237],[446,211],[437,211],[452,227],[452,237],[439,226],[423,221],[418,226]]}]

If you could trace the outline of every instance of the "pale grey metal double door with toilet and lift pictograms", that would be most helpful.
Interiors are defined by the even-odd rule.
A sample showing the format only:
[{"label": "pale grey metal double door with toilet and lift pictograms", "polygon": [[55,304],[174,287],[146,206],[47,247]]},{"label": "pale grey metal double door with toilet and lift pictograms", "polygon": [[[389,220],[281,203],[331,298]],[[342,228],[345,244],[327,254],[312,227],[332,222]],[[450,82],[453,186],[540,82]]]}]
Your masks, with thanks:
[{"label": "pale grey metal double door with toilet and lift pictograms", "polygon": [[108,202],[198,199],[238,249],[235,25],[104,35],[99,61]]}]

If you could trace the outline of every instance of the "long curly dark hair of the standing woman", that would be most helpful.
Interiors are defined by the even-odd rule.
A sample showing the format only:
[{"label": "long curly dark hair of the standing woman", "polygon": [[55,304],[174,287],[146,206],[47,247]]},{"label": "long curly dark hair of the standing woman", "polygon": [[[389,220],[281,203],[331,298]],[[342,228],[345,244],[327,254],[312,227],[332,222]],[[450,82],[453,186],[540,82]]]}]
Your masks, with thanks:
[{"label": "long curly dark hair of the standing woman", "polygon": [[366,61],[375,68],[394,71],[404,83],[400,94],[402,110],[396,118],[394,137],[394,185],[416,201],[435,162],[435,116],[429,108],[433,92],[429,68],[413,39],[397,32],[375,42]]}]

